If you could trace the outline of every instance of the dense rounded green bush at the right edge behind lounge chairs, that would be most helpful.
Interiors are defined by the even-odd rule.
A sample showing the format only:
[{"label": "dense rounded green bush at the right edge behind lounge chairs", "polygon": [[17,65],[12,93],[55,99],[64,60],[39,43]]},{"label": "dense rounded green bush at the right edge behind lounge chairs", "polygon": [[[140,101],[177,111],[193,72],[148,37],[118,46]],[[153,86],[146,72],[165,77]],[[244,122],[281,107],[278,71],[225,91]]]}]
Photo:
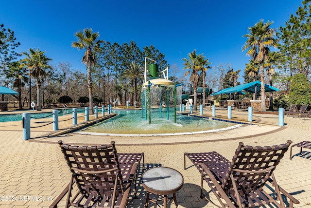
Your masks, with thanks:
[{"label": "dense rounded green bush at the right edge behind lounge chairs", "polygon": [[292,77],[288,96],[290,104],[311,105],[311,86],[307,76],[296,74]]}]

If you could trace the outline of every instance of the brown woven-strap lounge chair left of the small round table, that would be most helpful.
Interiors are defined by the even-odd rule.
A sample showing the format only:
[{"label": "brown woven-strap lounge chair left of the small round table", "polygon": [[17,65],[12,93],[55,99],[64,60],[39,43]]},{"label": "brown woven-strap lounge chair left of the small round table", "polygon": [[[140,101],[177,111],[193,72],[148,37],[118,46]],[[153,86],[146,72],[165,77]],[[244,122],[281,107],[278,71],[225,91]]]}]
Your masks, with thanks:
[{"label": "brown woven-strap lounge chair left of the small round table", "polygon": [[[71,146],[62,141],[58,144],[72,176],[68,186],[50,208],[57,208],[67,192],[66,208],[125,208],[133,184],[136,196],[136,171],[143,153],[118,154],[114,141],[92,147]],[[77,192],[75,195],[72,193],[74,191]]]}]

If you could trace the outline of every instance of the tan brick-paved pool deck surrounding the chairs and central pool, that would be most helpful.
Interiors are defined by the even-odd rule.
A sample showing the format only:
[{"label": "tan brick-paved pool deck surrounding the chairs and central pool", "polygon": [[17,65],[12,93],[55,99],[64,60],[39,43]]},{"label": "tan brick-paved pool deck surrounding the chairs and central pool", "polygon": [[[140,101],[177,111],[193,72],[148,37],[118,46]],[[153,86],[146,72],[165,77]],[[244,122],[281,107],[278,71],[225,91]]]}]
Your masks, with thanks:
[{"label": "tan brick-paved pool deck surrounding the chairs and central pool", "polygon": [[[0,112],[0,114],[3,112]],[[20,112],[17,112],[20,113]],[[204,115],[210,116],[211,111],[205,110]],[[216,117],[226,117],[225,110],[217,110]],[[62,116],[63,117],[63,116]],[[65,115],[59,120],[66,120],[72,115]],[[99,116],[101,117],[101,116]],[[247,121],[247,113],[232,112],[233,120]],[[91,115],[90,120],[94,120]],[[36,119],[31,126],[41,126],[51,119]],[[78,124],[84,122],[84,117],[78,119]],[[77,134],[72,131],[72,121],[59,123],[59,132],[69,133],[57,135],[52,131],[52,125],[31,129],[30,140],[22,140],[21,121],[1,122],[1,165],[0,165],[0,197],[14,196],[17,200],[1,200],[0,208],[48,207],[53,198],[69,183],[70,173],[63,155],[57,145],[58,140],[64,143],[79,145],[94,145],[110,143],[114,140],[118,152],[144,152],[145,164],[148,167],[166,166],[180,171],[184,176],[184,186],[177,192],[178,207],[209,208],[214,207],[206,200],[200,199],[200,174],[190,167],[187,161],[183,169],[184,152],[217,151],[231,160],[238,143],[261,146],[285,143],[288,139],[293,144],[303,140],[311,140],[311,118],[299,120],[295,117],[284,118],[284,127],[277,126],[276,114],[253,114],[253,124],[223,132],[178,136],[147,136],[147,137],[117,137]],[[275,175],[278,184],[287,190],[300,204],[295,207],[311,207],[311,153],[293,148],[293,159],[289,159],[289,151],[276,168]],[[143,208],[146,193],[138,186],[138,199],[129,203],[129,208]],[[208,190],[205,185],[205,189]],[[210,195],[215,199],[214,195]],[[62,207],[63,205],[59,206]],[[149,207],[154,205],[149,204]],[[171,207],[174,207],[173,205]]]}]

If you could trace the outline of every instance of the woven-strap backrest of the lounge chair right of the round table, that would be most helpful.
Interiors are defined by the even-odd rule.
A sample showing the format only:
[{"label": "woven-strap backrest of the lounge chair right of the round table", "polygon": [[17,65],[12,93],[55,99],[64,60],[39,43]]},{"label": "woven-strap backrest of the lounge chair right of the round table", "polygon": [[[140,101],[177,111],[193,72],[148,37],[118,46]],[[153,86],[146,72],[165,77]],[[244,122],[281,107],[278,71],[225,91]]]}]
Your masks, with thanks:
[{"label": "woven-strap backrest of the lounge chair right of the round table", "polygon": [[253,147],[244,146],[240,142],[228,168],[222,188],[227,194],[232,191],[233,184],[230,179],[230,174],[232,174],[238,184],[241,196],[261,189],[291,143],[292,141],[288,140],[286,144]]}]

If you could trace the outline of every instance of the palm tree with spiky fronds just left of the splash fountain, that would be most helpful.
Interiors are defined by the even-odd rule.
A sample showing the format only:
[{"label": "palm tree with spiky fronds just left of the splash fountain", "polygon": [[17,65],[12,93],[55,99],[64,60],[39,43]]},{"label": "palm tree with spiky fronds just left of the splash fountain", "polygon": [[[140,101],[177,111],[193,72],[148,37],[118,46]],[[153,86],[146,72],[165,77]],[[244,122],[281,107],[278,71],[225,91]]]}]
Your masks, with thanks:
[{"label": "palm tree with spiky fronds just left of the splash fountain", "polygon": [[129,65],[129,68],[124,71],[123,76],[129,78],[132,82],[134,82],[134,102],[137,101],[137,83],[139,79],[142,78],[144,74],[144,69],[132,61]]}]

